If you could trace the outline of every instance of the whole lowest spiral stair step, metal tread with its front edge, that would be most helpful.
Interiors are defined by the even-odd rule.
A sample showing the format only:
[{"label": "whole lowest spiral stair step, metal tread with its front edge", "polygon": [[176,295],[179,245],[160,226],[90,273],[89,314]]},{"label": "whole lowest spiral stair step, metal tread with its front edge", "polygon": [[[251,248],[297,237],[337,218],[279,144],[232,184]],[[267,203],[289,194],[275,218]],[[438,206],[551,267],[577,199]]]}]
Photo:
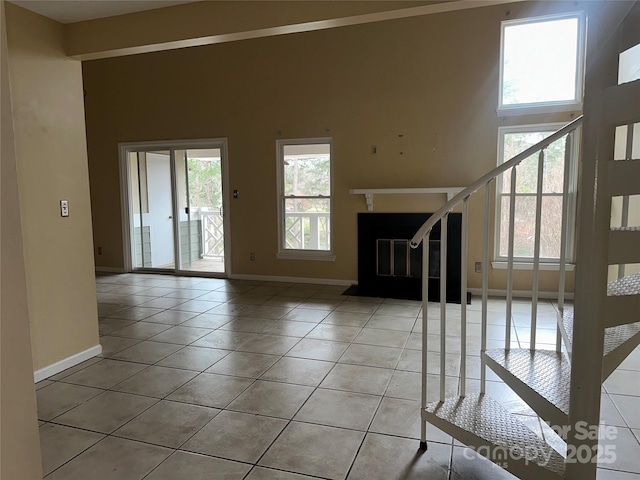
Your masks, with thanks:
[{"label": "whole lowest spiral stair step, metal tread with its front edge", "polygon": [[520,479],[564,478],[564,458],[486,394],[430,403],[423,419]]}]

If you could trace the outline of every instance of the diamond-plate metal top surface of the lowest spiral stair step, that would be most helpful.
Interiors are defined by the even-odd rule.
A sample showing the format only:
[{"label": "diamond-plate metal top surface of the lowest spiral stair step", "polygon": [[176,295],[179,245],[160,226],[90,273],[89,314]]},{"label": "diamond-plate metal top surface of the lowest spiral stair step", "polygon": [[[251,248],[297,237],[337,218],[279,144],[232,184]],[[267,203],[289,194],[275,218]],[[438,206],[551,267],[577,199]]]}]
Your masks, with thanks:
[{"label": "diamond-plate metal top surface of the lowest spiral stair step", "polygon": [[[564,476],[565,463],[562,455],[486,394],[474,393],[466,397],[447,398],[444,402],[432,402],[426,406],[425,414],[427,420],[430,420],[430,415],[435,416],[478,437],[485,444],[502,447],[507,452],[523,452],[526,447],[532,453],[530,463],[559,477]],[[446,427],[436,426],[446,431]],[[447,433],[455,436],[451,432]]]}]

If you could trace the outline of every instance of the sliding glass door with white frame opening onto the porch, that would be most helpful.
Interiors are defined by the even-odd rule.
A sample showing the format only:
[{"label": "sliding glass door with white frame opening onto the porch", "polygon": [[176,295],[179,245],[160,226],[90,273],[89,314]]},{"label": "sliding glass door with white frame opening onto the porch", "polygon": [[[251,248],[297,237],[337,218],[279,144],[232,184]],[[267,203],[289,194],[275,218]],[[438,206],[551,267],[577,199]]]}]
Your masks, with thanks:
[{"label": "sliding glass door with white frame opening onto the porch", "polygon": [[227,273],[226,142],[121,144],[120,149],[131,269]]}]

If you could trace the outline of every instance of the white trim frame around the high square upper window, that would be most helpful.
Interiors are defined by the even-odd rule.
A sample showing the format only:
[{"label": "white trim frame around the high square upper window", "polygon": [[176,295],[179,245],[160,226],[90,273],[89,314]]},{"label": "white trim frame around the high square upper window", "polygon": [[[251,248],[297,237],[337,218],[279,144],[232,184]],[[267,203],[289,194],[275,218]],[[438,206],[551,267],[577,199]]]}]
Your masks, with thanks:
[{"label": "white trim frame around the high square upper window", "polygon": [[[578,19],[578,52],[576,59],[576,85],[575,98],[571,100],[560,100],[552,102],[518,103],[515,105],[503,105],[502,87],[504,80],[504,31],[505,27],[517,24],[539,23],[564,18]],[[569,12],[556,15],[545,15],[541,17],[527,17],[515,20],[505,20],[500,25],[500,81],[498,82],[498,116],[506,117],[512,115],[529,115],[537,113],[560,113],[582,111],[582,95],[584,85],[584,62],[585,62],[585,19],[583,12]]]}]

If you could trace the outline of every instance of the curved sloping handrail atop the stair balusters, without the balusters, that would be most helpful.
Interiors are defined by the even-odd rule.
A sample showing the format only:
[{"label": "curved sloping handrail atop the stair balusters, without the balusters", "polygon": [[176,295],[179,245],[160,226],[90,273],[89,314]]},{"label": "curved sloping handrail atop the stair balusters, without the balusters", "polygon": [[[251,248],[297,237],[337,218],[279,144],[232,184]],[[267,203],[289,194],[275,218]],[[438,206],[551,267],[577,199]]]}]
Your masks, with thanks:
[{"label": "curved sloping handrail atop the stair balusters, without the balusters", "polygon": [[567,125],[562,127],[557,132],[552,133],[551,135],[549,135],[544,140],[536,143],[535,145],[533,145],[533,146],[527,148],[526,150],[524,150],[523,152],[519,153],[518,155],[513,157],[511,160],[509,160],[507,162],[504,162],[503,164],[497,166],[496,168],[491,170],[489,173],[487,173],[486,175],[480,177],[478,180],[473,182],[470,186],[468,186],[467,188],[462,190],[455,197],[453,197],[451,200],[449,200],[447,203],[445,203],[442,207],[440,207],[438,210],[436,210],[433,213],[433,215],[431,215],[427,219],[427,221],[424,222],[424,224],[420,227],[418,232],[411,239],[411,242],[410,242],[411,248],[417,248],[418,245],[420,245],[420,242],[422,242],[422,240],[426,236],[426,234],[431,231],[433,226],[436,223],[438,223],[438,221],[445,214],[449,213],[462,200],[464,200],[468,196],[470,196],[473,193],[475,193],[476,191],[478,191],[480,188],[482,188],[485,185],[487,185],[490,181],[492,181],[498,175],[506,172],[507,170],[509,170],[512,167],[515,167],[520,162],[522,162],[523,160],[529,158],[531,155],[533,155],[534,153],[540,151],[541,149],[548,147],[549,145],[551,145],[553,142],[555,142],[559,138],[564,137],[567,133],[570,133],[570,132],[574,131],[581,124],[582,124],[582,115],[579,116],[578,118],[576,118],[571,123],[568,123]]}]

